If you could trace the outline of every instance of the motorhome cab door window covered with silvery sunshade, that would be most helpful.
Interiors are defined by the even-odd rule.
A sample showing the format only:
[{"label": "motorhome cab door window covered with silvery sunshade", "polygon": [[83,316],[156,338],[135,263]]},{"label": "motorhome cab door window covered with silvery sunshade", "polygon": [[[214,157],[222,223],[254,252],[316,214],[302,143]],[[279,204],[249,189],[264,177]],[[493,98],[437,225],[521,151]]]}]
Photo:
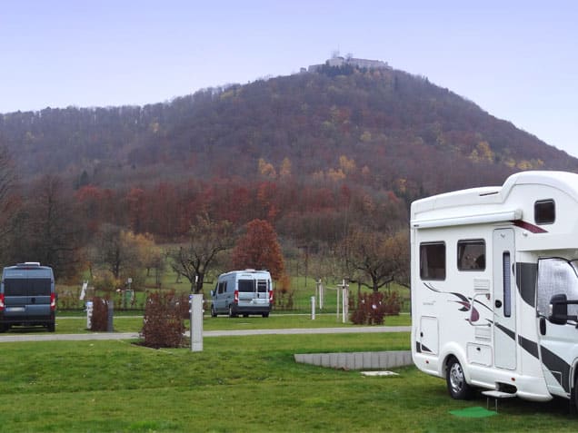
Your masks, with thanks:
[{"label": "motorhome cab door window covered with silvery sunshade", "polygon": [[[578,300],[578,263],[559,258],[538,261],[537,307],[541,316],[548,316],[554,295]],[[568,315],[578,315],[578,305],[568,305]]]}]

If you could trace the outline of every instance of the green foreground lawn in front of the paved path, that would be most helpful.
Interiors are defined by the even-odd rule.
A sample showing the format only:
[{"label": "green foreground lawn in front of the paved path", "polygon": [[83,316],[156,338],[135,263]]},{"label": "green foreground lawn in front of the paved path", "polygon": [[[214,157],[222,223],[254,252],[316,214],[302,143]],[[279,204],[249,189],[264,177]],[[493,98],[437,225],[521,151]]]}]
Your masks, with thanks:
[{"label": "green foreground lawn in front of the paved path", "polygon": [[297,364],[294,353],[409,349],[409,333],[205,338],[203,352],[125,341],[3,343],[1,431],[575,431],[565,401],[450,410],[442,379]]}]

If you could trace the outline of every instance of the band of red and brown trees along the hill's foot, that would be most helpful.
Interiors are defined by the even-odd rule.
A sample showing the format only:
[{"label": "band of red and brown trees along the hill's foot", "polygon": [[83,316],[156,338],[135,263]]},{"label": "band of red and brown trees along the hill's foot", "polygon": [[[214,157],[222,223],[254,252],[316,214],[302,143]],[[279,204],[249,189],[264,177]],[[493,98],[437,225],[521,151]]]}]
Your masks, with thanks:
[{"label": "band of red and brown trees along the hill's foot", "polygon": [[[406,204],[394,192],[375,194],[343,180],[314,186],[287,177],[75,190],[58,174],[19,182],[4,150],[0,260],[40,261],[74,283],[89,271],[97,289],[123,287],[128,277],[138,287],[171,267],[198,292],[207,275],[233,268],[267,269],[286,280],[285,260],[306,255],[333,260],[339,275],[378,290],[407,283],[407,263],[387,268],[384,261],[403,254],[384,250],[386,242],[362,244],[379,238],[403,246]],[[374,265],[363,264],[370,255]]]}]

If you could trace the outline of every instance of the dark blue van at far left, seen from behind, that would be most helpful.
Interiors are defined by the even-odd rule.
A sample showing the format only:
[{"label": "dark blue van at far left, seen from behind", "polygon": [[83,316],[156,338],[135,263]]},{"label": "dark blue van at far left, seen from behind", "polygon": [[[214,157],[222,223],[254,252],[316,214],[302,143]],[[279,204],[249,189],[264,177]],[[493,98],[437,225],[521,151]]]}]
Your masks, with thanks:
[{"label": "dark blue van at far left, seen from behind", "polygon": [[56,292],[52,268],[27,261],[2,271],[0,332],[10,327],[42,325],[55,331]]}]

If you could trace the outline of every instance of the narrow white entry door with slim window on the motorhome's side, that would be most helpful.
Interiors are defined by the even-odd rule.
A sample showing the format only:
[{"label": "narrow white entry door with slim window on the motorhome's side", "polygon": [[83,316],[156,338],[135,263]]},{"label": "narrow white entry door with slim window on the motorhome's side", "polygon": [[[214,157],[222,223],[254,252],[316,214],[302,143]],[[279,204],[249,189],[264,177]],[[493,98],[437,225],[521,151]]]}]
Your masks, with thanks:
[{"label": "narrow white entry door with slim window on the motorhome's side", "polygon": [[513,229],[493,231],[493,363],[516,368],[516,308]]}]

